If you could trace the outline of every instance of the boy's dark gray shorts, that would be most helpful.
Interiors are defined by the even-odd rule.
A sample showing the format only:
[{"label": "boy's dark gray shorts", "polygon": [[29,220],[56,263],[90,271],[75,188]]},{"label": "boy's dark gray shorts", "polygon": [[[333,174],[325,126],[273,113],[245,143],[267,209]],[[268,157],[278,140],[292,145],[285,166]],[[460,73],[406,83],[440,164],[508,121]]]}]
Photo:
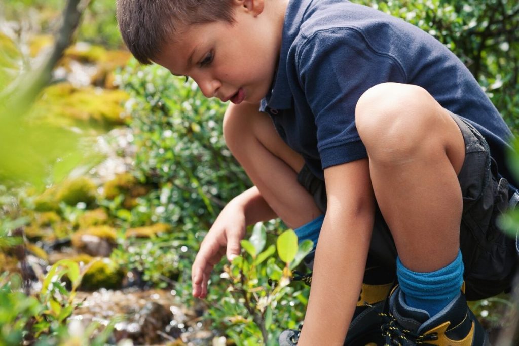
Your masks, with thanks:
[{"label": "boy's dark gray shorts", "polygon": [[[465,266],[465,295],[468,300],[478,300],[509,290],[517,267],[515,239],[506,236],[496,224],[498,215],[508,209],[509,186],[498,174],[497,164],[479,131],[465,119],[451,115],[465,140],[465,161],[458,175],[463,195],[460,248]],[[325,213],[324,182],[306,165],[297,180]],[[396,258],[393,238],[377,206],[368,262],[371,266],[386,267],[396,277]]]}]

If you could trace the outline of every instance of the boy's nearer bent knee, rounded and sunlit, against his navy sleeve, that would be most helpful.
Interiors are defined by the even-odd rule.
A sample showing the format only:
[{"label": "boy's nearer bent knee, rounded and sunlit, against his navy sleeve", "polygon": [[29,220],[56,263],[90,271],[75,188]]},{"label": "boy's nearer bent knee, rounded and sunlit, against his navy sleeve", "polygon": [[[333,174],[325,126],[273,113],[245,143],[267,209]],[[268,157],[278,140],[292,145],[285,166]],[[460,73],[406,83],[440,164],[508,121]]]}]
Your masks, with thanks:
[{"label": "boy's nearer bent knee, rounded and sunlit, against his navy sleeve", "polygon": [[366,90],[355,109],[357,130],[370,157],[408,157],[425,143],[443,108],[424,89],[386,82]]}]

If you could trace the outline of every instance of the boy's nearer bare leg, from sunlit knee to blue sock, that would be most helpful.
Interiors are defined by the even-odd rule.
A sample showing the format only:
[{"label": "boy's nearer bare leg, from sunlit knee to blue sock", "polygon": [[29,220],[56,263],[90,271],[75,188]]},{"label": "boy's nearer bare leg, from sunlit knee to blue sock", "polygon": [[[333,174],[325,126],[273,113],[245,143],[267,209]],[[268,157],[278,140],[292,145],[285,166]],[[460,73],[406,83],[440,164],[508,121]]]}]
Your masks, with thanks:
[{"label": "boy's nearer bare leg, from sunlit knee to blue sock", "polygon": [[456,122],[426,90],[384,83],[361,96],[356,124],[402,263],[419,272],[443,268],[459,249],[465,144]]}]

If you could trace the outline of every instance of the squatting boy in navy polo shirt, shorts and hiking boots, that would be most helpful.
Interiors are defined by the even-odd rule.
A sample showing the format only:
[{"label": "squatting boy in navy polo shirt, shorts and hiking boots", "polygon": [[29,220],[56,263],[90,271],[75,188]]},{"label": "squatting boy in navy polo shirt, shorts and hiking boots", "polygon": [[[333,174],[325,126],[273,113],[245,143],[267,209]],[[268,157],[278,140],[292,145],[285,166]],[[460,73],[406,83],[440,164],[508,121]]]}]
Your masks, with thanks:
[{"label": "squatting boy in navy polo shirt, shorts and hiking boots", "polygon": [[381,326],[388,343],[488,344],[465,296],[502,292],[515,270],[514,242],[495,226],[512,191],[511,133],[452,53],[343,0],[117,6],[139,61],[231,101],[224,136],[255,185],[203,240],[195,297],[224,254],[239,254],[247,225],[281,217],[301,238],[320,231],[303,330],[281,344],[342,345],[357,333],[357,320],[348,326],[364,316],[356,303],[367,261],[396,267]]}]

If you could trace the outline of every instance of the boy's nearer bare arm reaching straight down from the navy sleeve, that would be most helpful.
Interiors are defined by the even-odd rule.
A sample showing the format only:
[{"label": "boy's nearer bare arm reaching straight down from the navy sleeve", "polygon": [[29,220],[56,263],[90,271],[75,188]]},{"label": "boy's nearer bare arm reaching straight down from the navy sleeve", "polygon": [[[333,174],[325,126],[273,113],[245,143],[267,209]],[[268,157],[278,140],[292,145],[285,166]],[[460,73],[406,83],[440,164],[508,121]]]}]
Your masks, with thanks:
[{"label": "boy's nearer bare arm reaching straight down from the navy sleeve", "polygon": [[298,345],[342,346],[359,298],[370,245],[374,196],[368,160],[324,171],[328,206]]}]

